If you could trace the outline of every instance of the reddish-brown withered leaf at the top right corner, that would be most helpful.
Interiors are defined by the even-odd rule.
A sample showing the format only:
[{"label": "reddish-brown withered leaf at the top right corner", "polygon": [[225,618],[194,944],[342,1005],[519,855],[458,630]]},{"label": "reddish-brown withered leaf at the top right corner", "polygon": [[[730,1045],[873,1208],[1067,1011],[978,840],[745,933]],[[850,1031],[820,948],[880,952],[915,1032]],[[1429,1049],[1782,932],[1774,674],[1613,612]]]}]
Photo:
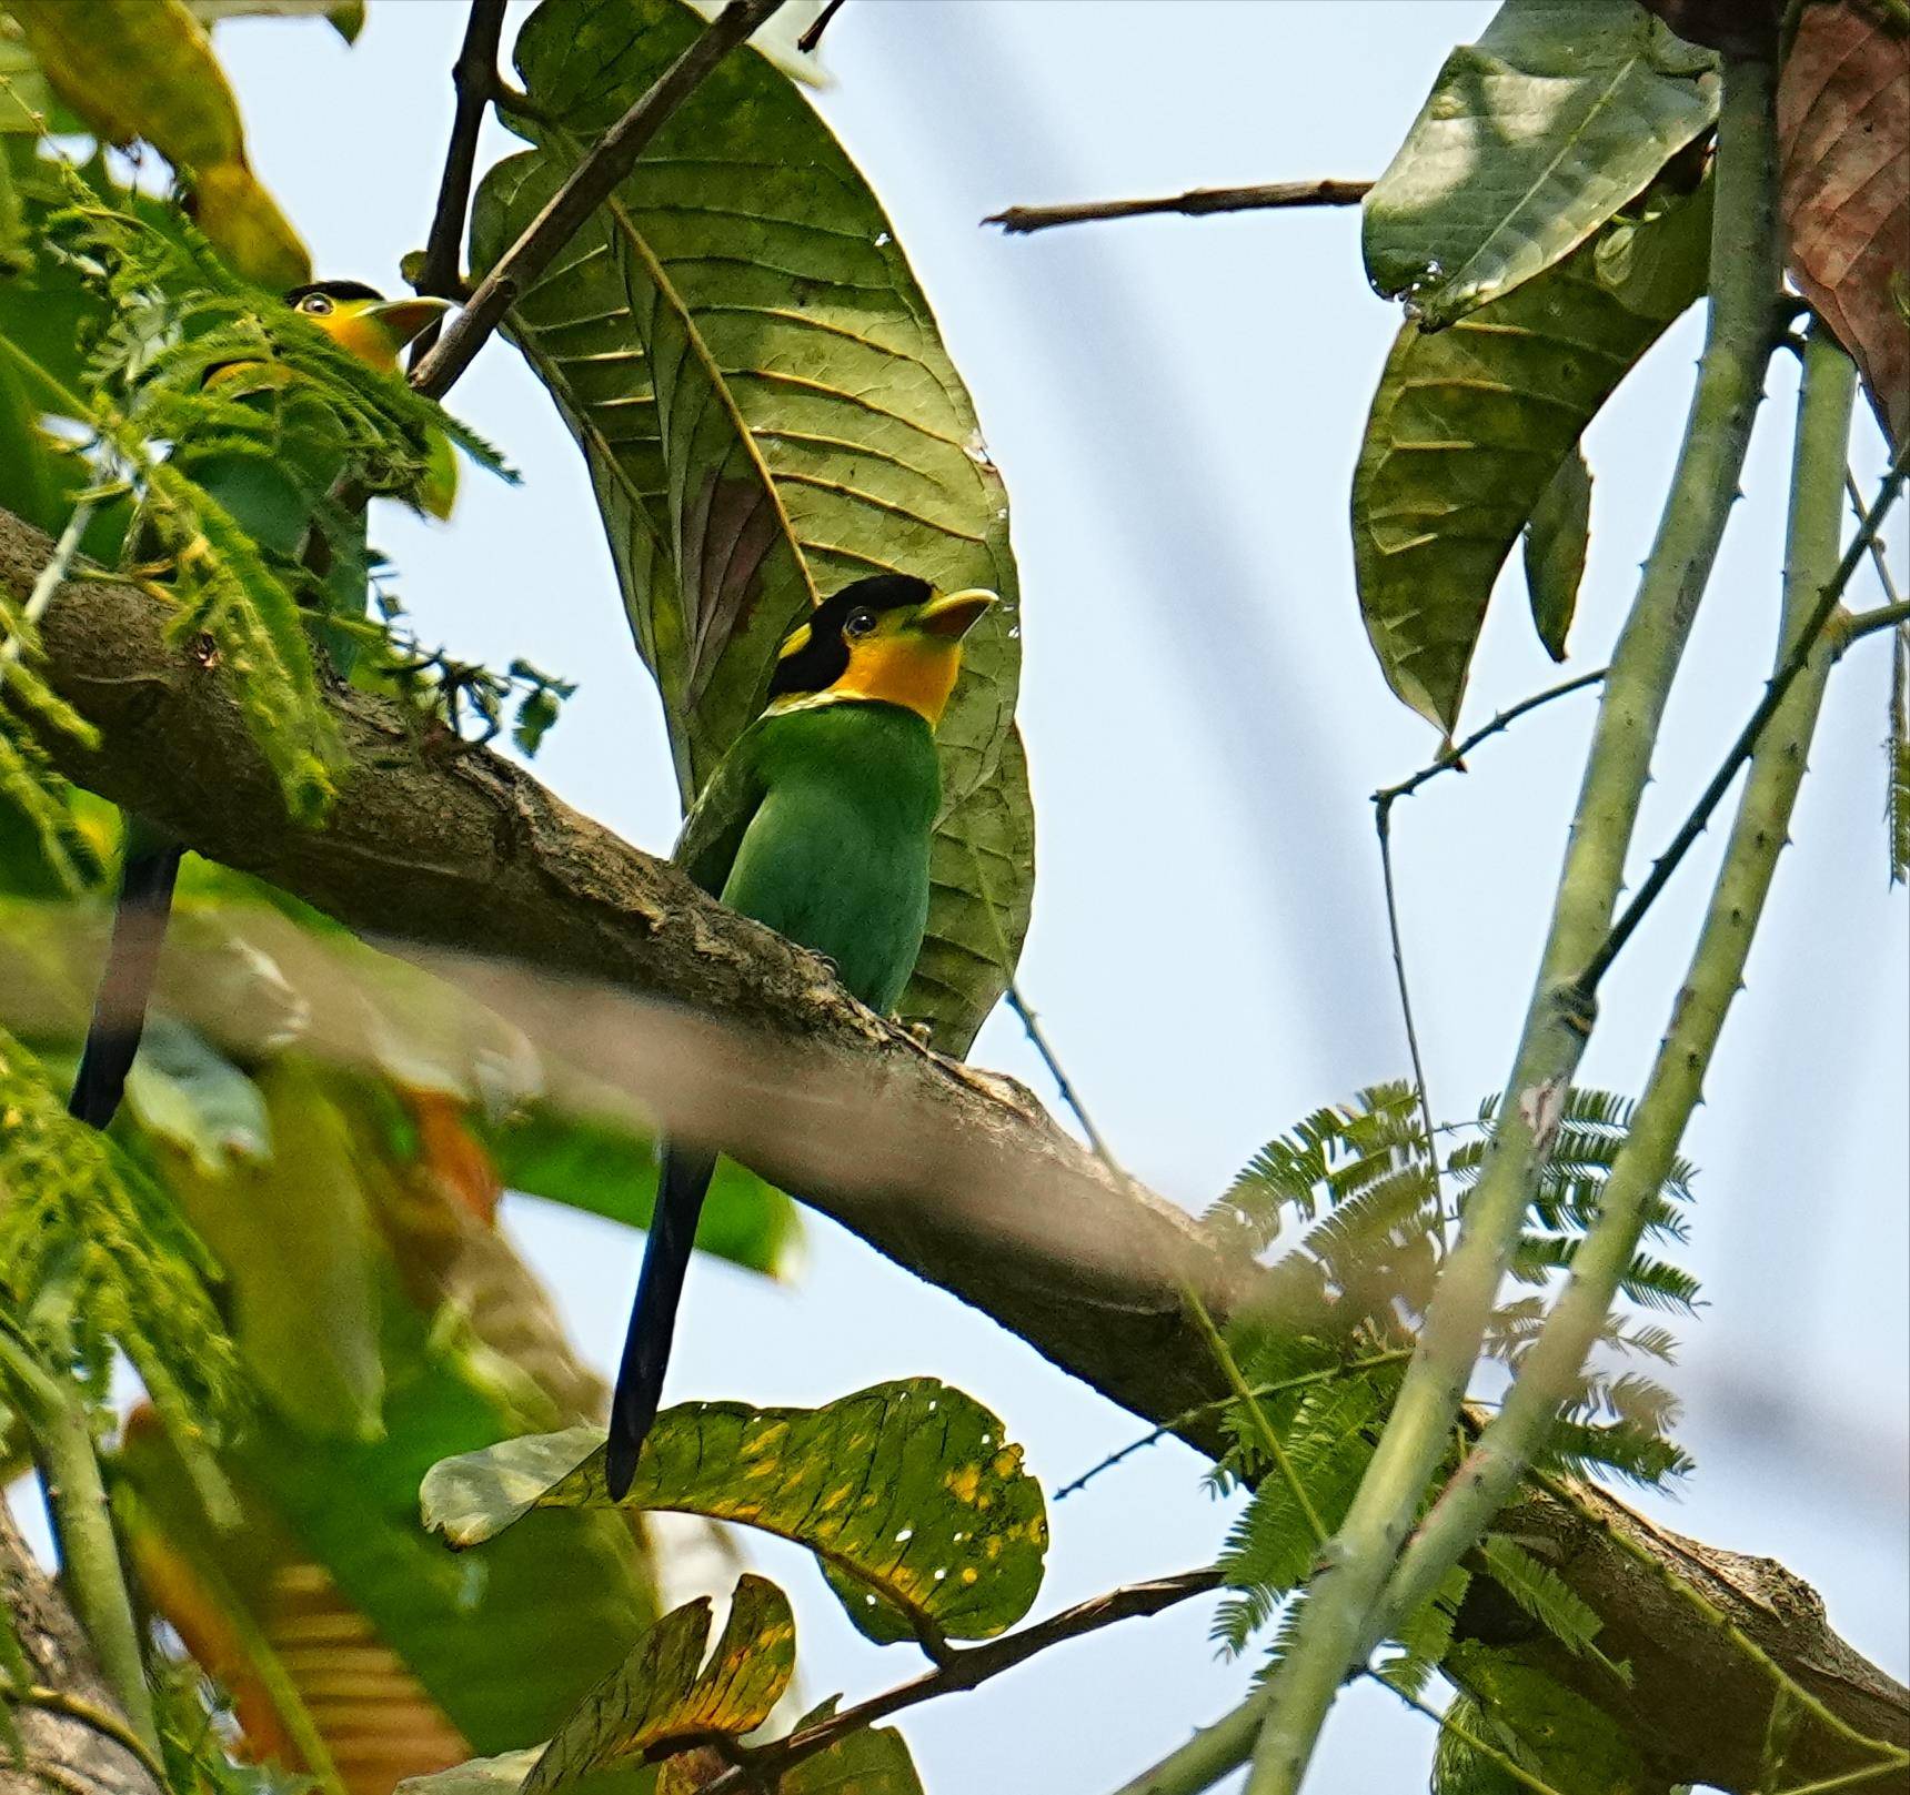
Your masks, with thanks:
[{"label": "reddish-brown withered leaf at the top right corner", "polygon": [[1910,44],[1879,10],[1807,6],[1778,80],[1784,227],[1803,296],[1910,441]]}]

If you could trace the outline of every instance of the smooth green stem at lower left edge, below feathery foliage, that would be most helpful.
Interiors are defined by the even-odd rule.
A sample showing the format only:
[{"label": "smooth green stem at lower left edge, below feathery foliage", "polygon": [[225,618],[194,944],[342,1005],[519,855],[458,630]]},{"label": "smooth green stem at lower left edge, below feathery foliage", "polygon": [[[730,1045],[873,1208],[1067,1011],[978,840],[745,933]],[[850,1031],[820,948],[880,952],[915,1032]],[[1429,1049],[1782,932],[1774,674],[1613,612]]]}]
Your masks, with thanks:
[{"label": "smooth green stem at lower left edge, below feathery foliage", "polygon": [[159,1755],[153,1692],[145,1680],[139,1627],[126,1591],[99,1455],[86,1407],[11,1329],[0,1329],[0,1375],[11,1384],[27,1428],[46,1505],[59,1535],[59,1568],[113,1700],[147,1749]]}]

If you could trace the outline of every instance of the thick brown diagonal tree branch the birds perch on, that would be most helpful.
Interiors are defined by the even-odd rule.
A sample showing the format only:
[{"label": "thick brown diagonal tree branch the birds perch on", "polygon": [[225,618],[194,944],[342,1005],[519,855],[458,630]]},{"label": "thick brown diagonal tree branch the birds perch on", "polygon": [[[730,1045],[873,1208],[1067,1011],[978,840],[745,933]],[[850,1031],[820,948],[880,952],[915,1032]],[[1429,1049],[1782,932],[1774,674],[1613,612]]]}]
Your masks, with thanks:
[{"label": "thick brown diagonal tree branch the birds perch on", "polygon": [[[0,512],[0,586],[31,592],[50,552]],[[1024,1090],[926,1052],[844,997],[816,957],[712,905],[523,770],[434,747],[365,693],[332,695],[351,773],[329,825],[294,827],[218,672],[168,645],[166,621],[162,600],[109,579],[69,582],[48,607],[48,678],[101,731],[92,752],[44,739],[73,779],[357,930],[592,982],[550,999],[565,1025],[609,1004],[607,987],[678,1006],[680,1027],[707,1027],[684,1012],[747,1027],[838,1109],[902,1117],[911,1144],[879,1176],[825,1171],[827,1129],[798,1130],[804,1159],[760,1121],[766,1102],[735,1100],[724,1127],[760,1132],[743,1157],[766,1176],[1136,1415],[1169,1421],[1224,1394],[1178,1285],[1224,1323],[1253,1300],[1251,1268],[1224,1264],[1178,1209],[1115,1180]],[[1219,1446],[1211,1409],[1180,1430]],[[1910,1692],[1843,1644],[1780,1566],[1666,1533],[1599,1491],[1581,1507],[1536,1497],[1507,1524],[1604,1616],[1601,1646],[1631,1659],[1633,1684],[1503,1616],[1471,1616],[1473,1637],[1599,1701],[1669,1780],[1753,1789],[1771,1705],[1765,1671],[1675,1579],[1858,1732],[1910,1743]]]}]

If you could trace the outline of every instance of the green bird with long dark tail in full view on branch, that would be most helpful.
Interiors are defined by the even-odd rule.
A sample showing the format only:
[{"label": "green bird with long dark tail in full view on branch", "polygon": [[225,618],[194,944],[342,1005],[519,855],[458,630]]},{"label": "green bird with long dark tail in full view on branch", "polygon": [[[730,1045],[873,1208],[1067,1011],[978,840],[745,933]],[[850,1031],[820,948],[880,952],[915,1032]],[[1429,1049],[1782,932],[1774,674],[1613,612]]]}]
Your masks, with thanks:
[{"label": "green bird with long dark tail in full view on branch", "polygon": [[[963,638],[993,592],[936,594],[882,573],[823,600],[789,636],[770,705],[711,773],[676,842],[680,865],[730,909],[827,955],[888,1014],[928,926],[928,838],[942,810],[936,724]],[[716,1155],[665,1148],[617,1394],[605,1480],[630,1488],[657,1419],[697,1214]]]}]

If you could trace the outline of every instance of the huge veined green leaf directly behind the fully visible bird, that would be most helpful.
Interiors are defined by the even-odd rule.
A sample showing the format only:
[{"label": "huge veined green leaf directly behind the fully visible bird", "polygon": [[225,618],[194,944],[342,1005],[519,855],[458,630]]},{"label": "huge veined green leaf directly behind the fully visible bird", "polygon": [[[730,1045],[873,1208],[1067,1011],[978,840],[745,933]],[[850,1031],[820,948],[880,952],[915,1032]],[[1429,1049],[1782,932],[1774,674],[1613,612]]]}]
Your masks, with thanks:
[{"label": "huge veined green leaf directly behind the fully visible bird", "polygon": [[[474,267],[697,29],[680,0],[544,0],[518,40],[539,113],[512,116],[539,147],[485,178]],[[968,638],[938,743],[951,817],[978,789],[1028,815],[1026,771],[1003,754],[1020,642],[1001,477],[882,208],[785,76],[754,53],[724,61],[508,328],[584,451],[686,798],[760,708],[804,609],[900,569],[1003,596]],[[986,957],[957,938],[955,997],[903,1003],[955,1052],[1007,985],[995,943],[1020,951],[1033,865],[999,871]]]}]

